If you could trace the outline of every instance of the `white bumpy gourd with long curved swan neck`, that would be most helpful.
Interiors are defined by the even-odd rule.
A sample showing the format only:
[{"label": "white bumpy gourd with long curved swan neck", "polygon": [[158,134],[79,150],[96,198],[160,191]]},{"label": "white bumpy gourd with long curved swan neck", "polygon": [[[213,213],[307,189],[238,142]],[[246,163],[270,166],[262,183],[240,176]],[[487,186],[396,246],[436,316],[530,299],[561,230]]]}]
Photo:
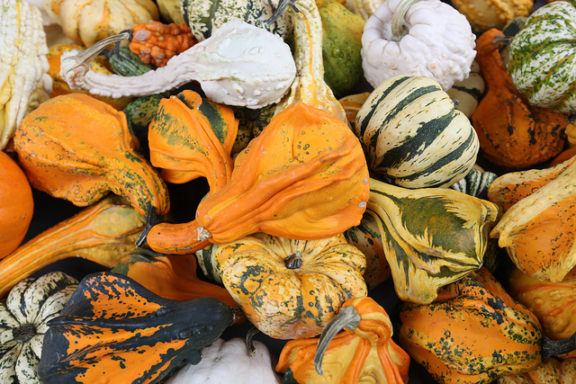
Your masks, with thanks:
[{"label": "white bumpy gourd with long curved swan neck", "polygon": [[166,67],[141,76],[103,75],[89,69],[103,48],[127,35],[63,53],[60,75],[72,89],[113,98],[159,94],[195,80],[212,102],[252,109],[278,103],[296,76],[292,51],[284,40],[239,19],[171,58]]}]

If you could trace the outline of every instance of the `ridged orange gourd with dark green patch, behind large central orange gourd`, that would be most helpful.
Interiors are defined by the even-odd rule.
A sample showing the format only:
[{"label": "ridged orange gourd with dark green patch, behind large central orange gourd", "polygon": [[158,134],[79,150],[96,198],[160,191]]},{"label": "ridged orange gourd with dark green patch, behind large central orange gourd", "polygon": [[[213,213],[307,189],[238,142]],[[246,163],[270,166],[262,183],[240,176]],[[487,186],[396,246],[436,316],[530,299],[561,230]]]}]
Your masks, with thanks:
[{"label": "ridged orange gourd with dark green patch, behind large central orange gourd", "polygon": [[238,120],[226,105],[193,91],[163,99],[148,126],[150,162],[168,183],[205,177],[210,192],[220,191],[232,174],[230,152]]}]

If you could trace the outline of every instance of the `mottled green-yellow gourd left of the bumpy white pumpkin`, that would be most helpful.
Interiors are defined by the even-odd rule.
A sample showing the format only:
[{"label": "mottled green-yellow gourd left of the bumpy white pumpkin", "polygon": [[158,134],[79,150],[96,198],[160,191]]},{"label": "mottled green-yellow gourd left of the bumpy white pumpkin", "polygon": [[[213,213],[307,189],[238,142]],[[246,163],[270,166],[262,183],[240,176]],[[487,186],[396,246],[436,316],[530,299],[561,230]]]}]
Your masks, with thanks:
[{"label": "mottled green-yellow gourd left of the bumpy white pumpkin", "polygon": [[365,19],[335,0],[323,3],[319,11],[324,81],[339,99],[351,94],[364,81],[360,51]]}]

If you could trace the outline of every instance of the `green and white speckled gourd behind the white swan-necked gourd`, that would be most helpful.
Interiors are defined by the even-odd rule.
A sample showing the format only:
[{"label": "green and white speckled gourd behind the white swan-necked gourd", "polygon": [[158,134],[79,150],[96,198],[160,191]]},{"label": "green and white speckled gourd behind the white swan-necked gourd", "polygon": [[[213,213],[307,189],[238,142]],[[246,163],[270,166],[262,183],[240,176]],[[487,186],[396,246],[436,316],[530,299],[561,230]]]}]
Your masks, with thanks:
[{"label": "green and white speckled gourd behind the white swan-necked gourd", "polygon": [[232,19],[264,28],[288,41],[293,36],[293,24],[287,13],[275,22],[266,23],[279,3],[280,0],[181,0],[180,8],[184,21],[199,41],[211,37],[213,31]]}]

